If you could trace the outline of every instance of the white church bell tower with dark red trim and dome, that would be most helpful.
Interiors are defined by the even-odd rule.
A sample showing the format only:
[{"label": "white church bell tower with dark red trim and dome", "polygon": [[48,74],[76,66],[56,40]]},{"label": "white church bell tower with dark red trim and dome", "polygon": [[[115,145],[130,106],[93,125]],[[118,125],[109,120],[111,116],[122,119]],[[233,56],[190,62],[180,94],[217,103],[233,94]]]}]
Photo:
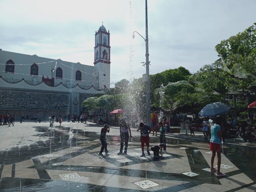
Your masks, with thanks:
[{"label": "white church bell tower with dark red trim and dome", "polygon": [[95,32],[94,67],[98,73],[99,89],[110,88],[110,38],[102,26]]}]

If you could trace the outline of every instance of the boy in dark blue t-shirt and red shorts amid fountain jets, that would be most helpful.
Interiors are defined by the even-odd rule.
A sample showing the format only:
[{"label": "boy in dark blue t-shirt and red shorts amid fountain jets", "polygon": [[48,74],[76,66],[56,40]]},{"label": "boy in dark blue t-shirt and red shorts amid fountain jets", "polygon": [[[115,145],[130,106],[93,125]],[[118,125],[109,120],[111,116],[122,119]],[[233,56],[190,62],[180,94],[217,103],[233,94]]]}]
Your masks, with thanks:
[{"label": "boy in dark blue t-shirt and red shorts amid fountain jets", "polygon": [[139,128],[137,129],[137,131],[140,130],[140,142],[141,142],[141,150],[142,150],[142,155],[141,157],[145,157],[145,153],[144,153],[144,145],[146,144],[147,146],[147,153],[148,155],[150,155],[149,152],[149,134],[152,131],[152,129],[148,126],[145,125],[144,123],[140,123]]}]

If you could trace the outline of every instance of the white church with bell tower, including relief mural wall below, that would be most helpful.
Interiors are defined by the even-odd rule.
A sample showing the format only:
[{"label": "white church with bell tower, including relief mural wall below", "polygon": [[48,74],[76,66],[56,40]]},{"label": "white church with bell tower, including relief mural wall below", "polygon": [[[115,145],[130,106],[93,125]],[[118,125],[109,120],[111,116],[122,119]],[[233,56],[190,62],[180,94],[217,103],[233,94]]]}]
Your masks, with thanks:
[{"label": "white church with bell tower, including relief mural wall below", "polygon": [[110,87],[110,33],[95,33],[94,66],[0,50],[0,114],[79,114],[82,102]]}]

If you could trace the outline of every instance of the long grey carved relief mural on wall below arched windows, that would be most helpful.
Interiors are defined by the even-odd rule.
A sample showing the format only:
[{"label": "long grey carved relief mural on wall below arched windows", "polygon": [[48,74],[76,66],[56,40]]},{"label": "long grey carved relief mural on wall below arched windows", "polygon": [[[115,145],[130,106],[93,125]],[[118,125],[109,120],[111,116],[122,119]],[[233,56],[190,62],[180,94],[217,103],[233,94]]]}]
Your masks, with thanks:
[{"label": "long grey carved relief mural on wall below arched windows", "polygon": [[0,90],[0,109],[70,110],[69,94]]}]

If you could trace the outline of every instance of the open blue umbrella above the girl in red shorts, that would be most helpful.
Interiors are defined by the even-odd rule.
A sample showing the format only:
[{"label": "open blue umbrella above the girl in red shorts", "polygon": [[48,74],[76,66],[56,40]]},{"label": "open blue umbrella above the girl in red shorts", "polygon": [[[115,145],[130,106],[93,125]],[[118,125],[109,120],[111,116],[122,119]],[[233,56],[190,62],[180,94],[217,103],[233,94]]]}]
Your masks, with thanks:
[{"label": "open blue umbrella above the girl in red shorts", "polygon": [[210,103],[206,105],[199,113],[198,115],[201,117],[214,117],[217,115],[221,115],[224,113],[227,113],[231,107],[229,105],[226,105],[224,103]]}]

